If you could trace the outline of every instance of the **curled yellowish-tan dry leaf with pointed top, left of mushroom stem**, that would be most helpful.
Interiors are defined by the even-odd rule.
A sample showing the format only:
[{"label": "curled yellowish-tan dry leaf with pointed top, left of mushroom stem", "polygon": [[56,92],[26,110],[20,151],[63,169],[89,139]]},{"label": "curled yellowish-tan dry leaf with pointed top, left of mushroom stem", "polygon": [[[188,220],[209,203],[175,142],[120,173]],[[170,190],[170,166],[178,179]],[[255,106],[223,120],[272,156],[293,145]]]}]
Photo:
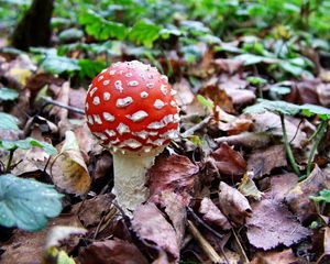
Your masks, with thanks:
[{"label": "curled yellowish-tan dry leaf with pointed top, left of mushroom stem", "polygon": [[81,156],[74,132],[67,131],[61,153],[51,162],[54,184],[68,194],[82,195],[89,190],[91,178]]}]

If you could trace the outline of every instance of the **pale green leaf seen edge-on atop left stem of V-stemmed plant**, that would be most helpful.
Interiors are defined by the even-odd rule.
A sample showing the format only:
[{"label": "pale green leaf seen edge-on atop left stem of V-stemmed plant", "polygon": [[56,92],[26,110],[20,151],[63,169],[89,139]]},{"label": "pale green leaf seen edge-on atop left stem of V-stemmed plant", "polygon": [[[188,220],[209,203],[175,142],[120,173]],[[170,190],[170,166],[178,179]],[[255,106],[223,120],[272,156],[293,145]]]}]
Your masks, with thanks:
[{"label": "pale green leaf seen edge-on atop left stem of V-stemmed plant", "polygon": [[254,106],[248,107],[243,110],[245,113],[262,113],[265,111],[283,113],[285,116],[295,116],[300,112],[300,107],[285,101],[270,101],[258,99]]}]

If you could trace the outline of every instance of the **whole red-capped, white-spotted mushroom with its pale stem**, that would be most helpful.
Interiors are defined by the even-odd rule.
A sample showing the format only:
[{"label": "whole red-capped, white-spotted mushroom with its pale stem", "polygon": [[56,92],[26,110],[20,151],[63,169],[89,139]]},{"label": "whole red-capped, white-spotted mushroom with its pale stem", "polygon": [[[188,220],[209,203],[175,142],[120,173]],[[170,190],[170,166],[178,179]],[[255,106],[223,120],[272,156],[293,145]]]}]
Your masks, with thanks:
[{"label": "whole red-capped, white-spotted mushroom with its pale stem", "polygon": [[138,61],[116,63],[91,82],[90,131],[113,155],[113,194],[129,212],[148,197],[145,173],[178,132],[178,107],[167,77]]}]

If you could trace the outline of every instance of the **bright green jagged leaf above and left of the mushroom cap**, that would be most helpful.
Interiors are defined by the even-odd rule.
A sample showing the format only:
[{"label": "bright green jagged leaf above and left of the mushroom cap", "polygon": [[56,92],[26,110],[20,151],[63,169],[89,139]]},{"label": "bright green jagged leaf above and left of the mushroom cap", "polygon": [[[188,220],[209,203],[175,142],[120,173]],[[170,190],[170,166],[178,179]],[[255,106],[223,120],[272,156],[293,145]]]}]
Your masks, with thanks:
[{"label": "bright green jagged leaf above and left of the mushroom cap", "polygon": [[106,41],[109,37],[123,40],[128,32],[122,23],[108,21],[91,10],[81,12],[78,20],[85,25],[86,32],[98,41]]}]

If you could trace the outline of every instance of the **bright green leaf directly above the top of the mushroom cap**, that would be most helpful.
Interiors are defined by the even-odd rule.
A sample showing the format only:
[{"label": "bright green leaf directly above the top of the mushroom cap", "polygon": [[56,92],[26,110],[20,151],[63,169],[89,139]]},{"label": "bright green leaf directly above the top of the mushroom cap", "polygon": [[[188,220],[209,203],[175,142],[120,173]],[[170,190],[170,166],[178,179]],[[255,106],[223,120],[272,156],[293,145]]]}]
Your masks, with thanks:
[{"label": "bright green leaf directly above the top of the mushroom cap", "polygon": [[160,37],[161,26],[145,21],[138,21],[129,33],[129,38],[136,44],[143,44],[146,47],[152,47],[153,42]]}]

